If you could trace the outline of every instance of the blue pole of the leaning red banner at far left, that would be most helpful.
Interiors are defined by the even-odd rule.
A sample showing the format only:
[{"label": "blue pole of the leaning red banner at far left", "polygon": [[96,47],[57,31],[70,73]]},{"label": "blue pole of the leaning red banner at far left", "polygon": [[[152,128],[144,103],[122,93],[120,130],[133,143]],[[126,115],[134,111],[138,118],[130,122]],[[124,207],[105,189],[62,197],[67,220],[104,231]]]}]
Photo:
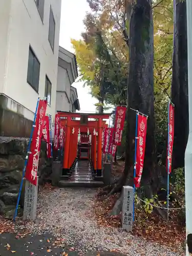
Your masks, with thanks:
[{"label": "blue pole of the leaning red banner at far left", "polygon": [[32,129],[31,129],[31,135],[30,135],[28,149],[27,149],[27,155],[26,155],[26,158],[25,158],[25,164],[24,164],[23,173],[22,173],[22,181],[20,182],[19,193],[18,193],[18,197],[17,197],[17,204],[16,204],[16,208],[15,208],[15,213],[14,213],[14,216],[13,216],[14,221],[17,217],[17,210],[18,210],[18,204],[19,204],[19,200],[20,200],[20,194],[22,193],[22,187],[23,187],[24,176],[25,176],[25,172],[26,172],[28,155],[30,154],[31,140],[32,140],[33,131],[34,131],[34,127],[35,127],[35,120],[36,120],[36,115],[37,115],[38,104],[39,104],[39,97],[37,99],[37,105],[36,105],[36,110],[35,110],[35,114],[34,114],[33,125],[32,125]]}]

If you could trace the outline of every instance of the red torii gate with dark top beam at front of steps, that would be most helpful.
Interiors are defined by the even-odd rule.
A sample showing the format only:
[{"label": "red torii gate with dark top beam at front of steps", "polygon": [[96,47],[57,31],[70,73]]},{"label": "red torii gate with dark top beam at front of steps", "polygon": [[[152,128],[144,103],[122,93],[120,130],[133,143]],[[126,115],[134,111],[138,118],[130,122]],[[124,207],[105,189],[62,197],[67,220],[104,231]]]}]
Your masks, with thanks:
[{"label": "red torii gate with dark top beam at front of steps", "polygon": [[[102,130],[107,127],[106,121],[103,119],[109,119],[110,114],[85,114],[74,112],[57,112],[60,117],[60,123],[65,130],[65,142],[64,142],[64,156],[63,156],[63,174],[67,174],[72,167],[73,162],[77,157],[77,144],[78,144],[78,132],[89,133],[91,136],[91,159],[94,167],[94,171],[97,176],[101,176],[102,169]],[[72,118],[80,118],[80,120],[72,120]],[[93,118],[97,120],[88,120]],[[84,120],[84,122],[83,122]],[[97,132],[94,134],[94,129]]]}]

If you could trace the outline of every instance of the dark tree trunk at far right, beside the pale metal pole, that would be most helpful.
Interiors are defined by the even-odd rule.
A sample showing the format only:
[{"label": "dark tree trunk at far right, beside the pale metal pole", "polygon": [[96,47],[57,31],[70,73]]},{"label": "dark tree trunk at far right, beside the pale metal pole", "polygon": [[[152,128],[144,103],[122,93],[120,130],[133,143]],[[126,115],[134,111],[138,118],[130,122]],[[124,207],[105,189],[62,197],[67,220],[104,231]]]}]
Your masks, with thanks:
[{"label": "dark tree trunk at far right, beside the pale metal pole", "polygon": [[173,168],[184,166],[184,154],[189,132],[187,74],[186,0],[174,0],[174,54],[171,92],[172,101],[175,104]]}]

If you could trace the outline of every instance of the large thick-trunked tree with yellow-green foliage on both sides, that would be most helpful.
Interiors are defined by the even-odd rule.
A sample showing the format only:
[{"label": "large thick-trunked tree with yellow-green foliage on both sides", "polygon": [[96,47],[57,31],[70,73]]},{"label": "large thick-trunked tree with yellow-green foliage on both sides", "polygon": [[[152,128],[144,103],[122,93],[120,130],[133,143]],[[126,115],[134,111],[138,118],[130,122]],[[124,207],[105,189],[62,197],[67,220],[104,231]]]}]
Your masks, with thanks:
[{"label": "large thick-trunked tree with yellow-green foliage on both sides", "polygon": [[[166,131],[164,127],[167,125],[164,106],[170,92],[172,72],[172,0],[153,1],[153,6],[152,1],[88,0],[88,2],[92,13],[88,13],[84,20],[86,33],[83,34],[83,45],[89,51],[94,52],[94,60],[89,60],[87,66],[86,61],[89,57],[84,58],[84,53],[81,54],[78,51],[79,47],[75,47],[75,50],[76,55],[80,57],[79,59],[77,57],[79,67],[87,67],[89,69],[87,74],[91,70],[94,79],[100,77],[100,83],[94,84],[93,79],[90,79],[86,72],[81,72],[84,80],[91,81],[93,95],[104,89],[103,97],[106,103],[116,105],[123,100],[126,102],[126,95],[123,92],[127,88],[125,70],[129,64],[126,164],[123,176],[111,193],[120,190],[125,180],[133,184],[135,113],[130,110],[131,107],[149,116],[142,184],[145,185],[144,190],[148,191],[148,196],[151,197],[158,185],[161,186],[157,182],[159,167],[156,165],[154,133],[155,121],[158,121],[158,139],[164,136],[164,131]],[[154,29],[153,16],[155,18]],[[153,60],[154,36],[155,61]],[[76,41],[75,44],[78,45],[78,42]],[[153,76],[153,64],[155,64],[155,77]],[[100,76],[100,74],[104,75]],[[154,118],[154,102],[156,119]],[[161,140],[160,144],[162,146],[159,154],[162,153],[163,145],[165,145],[164,140]]]}]

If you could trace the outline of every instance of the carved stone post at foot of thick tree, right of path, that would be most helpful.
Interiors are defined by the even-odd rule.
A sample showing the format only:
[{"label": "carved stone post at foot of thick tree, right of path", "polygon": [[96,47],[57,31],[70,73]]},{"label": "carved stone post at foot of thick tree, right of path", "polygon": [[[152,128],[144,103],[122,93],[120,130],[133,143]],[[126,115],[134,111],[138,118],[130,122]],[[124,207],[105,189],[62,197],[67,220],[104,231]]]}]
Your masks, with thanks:
[{"label": "carved stone post at foot of thick tree, right of path", "polygon": [[122,203],[122,229],[132,231],[133,228],[133,193],[131,186],[123,186],[123,203]]}]

